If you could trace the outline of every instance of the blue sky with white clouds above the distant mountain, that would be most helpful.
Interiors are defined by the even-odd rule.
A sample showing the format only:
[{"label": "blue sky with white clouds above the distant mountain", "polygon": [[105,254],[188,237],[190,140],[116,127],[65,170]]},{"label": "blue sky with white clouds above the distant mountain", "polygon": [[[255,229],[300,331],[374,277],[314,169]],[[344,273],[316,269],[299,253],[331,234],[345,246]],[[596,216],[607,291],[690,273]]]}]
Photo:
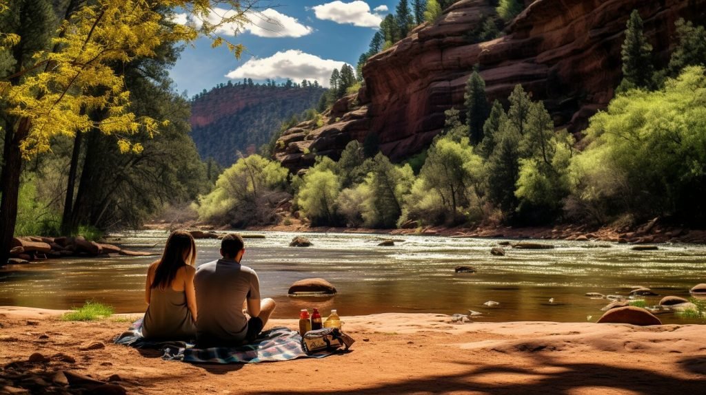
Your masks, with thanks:
[{"label": "blue sky with white clouds above the distant mountain", "polygon": [[[232,29],[222,35],[246,46],[238,60],[225,47],[212,49],[210,40],[201,38],[187,46],[170,75],[178,92],[193,96],[229,77],[255,81],[267,77],[299,82],[302,78],[328,84],[333,68],[356,65],[368,49],[376,23],[395,11],[398,0],[317,0],[260,1],[256,21],[236,37]],[[179,14],[181,23],[200,23],[190,15]],[[277,20],[277,23],[270,21]],[[229,77],[226,77],[229,75]],[[325,77],[324,77],[325,76]]]}]

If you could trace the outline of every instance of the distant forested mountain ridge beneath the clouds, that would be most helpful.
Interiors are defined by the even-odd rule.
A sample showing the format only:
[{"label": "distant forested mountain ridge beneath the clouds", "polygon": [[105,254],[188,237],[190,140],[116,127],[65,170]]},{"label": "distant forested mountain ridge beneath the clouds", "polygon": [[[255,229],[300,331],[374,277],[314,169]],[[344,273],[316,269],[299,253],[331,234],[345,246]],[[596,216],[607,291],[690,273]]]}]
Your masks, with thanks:
[{"label": "distant forested mountain ridge beneath the clouds", "polygon": [[252,153],[270,141],[283,120],[316,106],[318,84],[219,84],[191,101],[191,137],[201,158],[228,166],[237,152]]}]

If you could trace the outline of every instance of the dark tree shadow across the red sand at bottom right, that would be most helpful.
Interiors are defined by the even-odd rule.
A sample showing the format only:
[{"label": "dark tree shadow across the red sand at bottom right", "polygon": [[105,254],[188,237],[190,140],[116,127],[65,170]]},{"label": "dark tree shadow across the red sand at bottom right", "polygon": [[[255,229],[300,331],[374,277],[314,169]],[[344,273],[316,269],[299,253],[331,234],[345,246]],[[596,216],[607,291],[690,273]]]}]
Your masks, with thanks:
[{"label": "dark tree shadow across the red sand at bottom right", "polygon": [[[488,394],[571,394],[583,387],[595,391],[614,389],[630,391],[634,394],[701,394],[706,387],[706,377],[689,380],[669,374],[669,370],[647,370],[633,367],[602,365],[600,363],[561,363],[551,356],[535,353],[533,368],[520,368],[510,365],[472,365],[458,374],[438,374],[386,382],[373,387],[325,391],[317,389],[317,394],[418,394],[423,392],[468,392]],[[629,356],[626,358],[639,358]],[[680,361],[690,372],[706,374],[706,357]],[[656,367],[657,368],[657,367]],[[492,377],[498,375],[498,377]],[[501,375],[504,375],[501,377]],[[531,377],[521,378],[521,375]],[[517,377],[517,380],[513,378]],[[270,394],[295,394],[301,390],[271,391]]]}]

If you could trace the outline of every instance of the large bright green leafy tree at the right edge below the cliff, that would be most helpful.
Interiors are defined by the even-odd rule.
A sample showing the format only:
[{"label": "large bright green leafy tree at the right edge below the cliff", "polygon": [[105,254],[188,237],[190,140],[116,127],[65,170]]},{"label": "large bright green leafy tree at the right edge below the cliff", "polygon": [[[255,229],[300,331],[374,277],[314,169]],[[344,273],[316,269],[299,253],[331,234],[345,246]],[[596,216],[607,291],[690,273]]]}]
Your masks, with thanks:
[{"label": "large bright green leafy tree at the right edge below the cliff", "polygon": [[568,210],[599,222],[626,213],[706,220],[706,75],[690,66],[656,92],[617,96],[591,118],[571,163]]}]

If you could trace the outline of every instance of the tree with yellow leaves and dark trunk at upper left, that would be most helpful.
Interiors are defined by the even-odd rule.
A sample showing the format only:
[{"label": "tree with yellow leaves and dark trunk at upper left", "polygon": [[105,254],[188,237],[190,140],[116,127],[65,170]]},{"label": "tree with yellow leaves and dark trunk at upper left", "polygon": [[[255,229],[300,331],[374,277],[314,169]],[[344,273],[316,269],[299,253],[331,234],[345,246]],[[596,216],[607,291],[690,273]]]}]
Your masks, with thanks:
[{"label": "tree with yellow leaves and dark trunk at upper left", "polygon": [[[0,0],[0,16],[25,15],[26,8],[38,2]],[[165,40],[193,42],[199,35],[213,39],[214,46],[226,44],[239,56],[243,47],[222,39],[218,32],[224,27],[237,30],[249,23],[257,3],[70,0],[50,41],[31,53],[25,51],[30,37],[0,26],[0,53],[13,63],[7,70],[0,70],[0,116],[5,134],[0,176],[0,264],[7,261],[16,224],[23,160],[51,151],[56,136],[71,137],[91,129],[114,136],[120,151],[139,153],[142,146],[133,144],[131,136],[158,133],[165,124],[131,113],[130,92],[116,72],[118,66],[155,56],[155,49]],[[219,11],[228,8],[228,12],[216,12],[217,6]],[[160,23],[165,18],[160,8],[185,10],[203,23],[198,27],[165,25]],[[94,111],[104,116],[95,120],[90,116]]]}]

